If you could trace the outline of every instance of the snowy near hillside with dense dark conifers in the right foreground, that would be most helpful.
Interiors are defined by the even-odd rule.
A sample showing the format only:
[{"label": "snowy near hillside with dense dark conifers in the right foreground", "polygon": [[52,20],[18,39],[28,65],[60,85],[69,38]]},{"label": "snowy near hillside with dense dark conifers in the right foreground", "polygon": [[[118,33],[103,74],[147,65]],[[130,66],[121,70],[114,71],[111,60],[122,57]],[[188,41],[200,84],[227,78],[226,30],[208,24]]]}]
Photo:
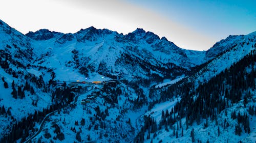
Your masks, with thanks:
[{"label": "snowy near hillside with dense dark conifers in the right foreground", "polygon": [[[164,94],[174,97],[171,101],[155,101],[144,114],[144,119],[151,119],[142,123],[136,142],[255,142],[255,53],[254,48],[237,64],[205,80],[199,87],[186,87],[181,82],[174,85],[176,91],[159,93],[159,100]],[[183,93],[177,92],[182,91],[180,84],[185,88],[183,92],[190,90],[187,96],[174,95]],[[172,89],[169,88],[163,90]]]}]

